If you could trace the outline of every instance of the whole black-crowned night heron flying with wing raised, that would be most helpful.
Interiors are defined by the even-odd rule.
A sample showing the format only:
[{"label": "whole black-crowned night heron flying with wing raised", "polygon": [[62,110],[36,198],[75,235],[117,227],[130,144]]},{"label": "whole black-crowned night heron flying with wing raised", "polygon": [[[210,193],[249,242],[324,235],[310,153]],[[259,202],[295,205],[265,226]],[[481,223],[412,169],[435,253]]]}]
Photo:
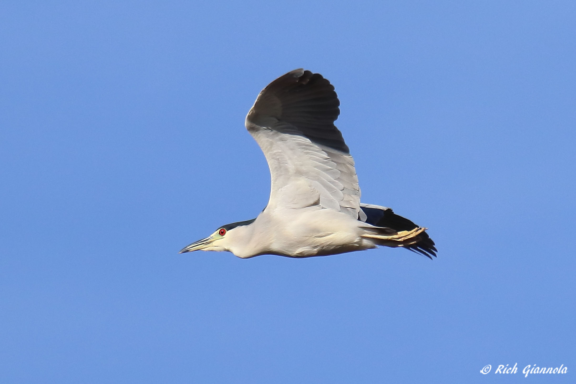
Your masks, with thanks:
[{"label": "whole black-crowned night heron flying with wing raised", "polygon": [[426,228],[390,208],[360,202],[354,159],[334,126],[339,105],[327,79],[302,69],[264,88],[246,128],[270,167],[268,205],[255,219],[223,225],[180,253],[311,257],[384,245],[436,256]]}]

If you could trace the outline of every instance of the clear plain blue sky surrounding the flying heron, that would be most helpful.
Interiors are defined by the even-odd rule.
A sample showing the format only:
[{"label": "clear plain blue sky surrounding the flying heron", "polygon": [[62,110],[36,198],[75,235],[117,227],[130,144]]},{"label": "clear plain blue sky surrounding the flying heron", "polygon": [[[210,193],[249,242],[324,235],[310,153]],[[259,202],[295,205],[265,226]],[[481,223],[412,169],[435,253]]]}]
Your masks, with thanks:
[{"label": "clear plain blue sky surrounding the flying heron", "polygon": [[[5,1],[0,44],[0,382],[576,382],[573,1]],[[437,259],[177,254],[266,206],[299,67]]]}]

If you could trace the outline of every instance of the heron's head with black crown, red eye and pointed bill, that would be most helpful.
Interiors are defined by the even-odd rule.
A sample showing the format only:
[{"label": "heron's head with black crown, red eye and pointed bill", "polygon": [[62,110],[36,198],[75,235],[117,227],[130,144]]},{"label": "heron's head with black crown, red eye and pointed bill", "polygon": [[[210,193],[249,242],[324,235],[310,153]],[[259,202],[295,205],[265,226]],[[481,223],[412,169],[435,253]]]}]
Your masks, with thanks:
[{"label": "heron's head with black crown, red eye and pointed bill", "polygon": [[245,242],[244,237],[246,233],[244,227],[252,224],[254,220],[255,219],[223,225],[215,230],[209,237],[185,246],[179,253],[194,252],[195,250],[228,250],[233,252],[236,246]]}]

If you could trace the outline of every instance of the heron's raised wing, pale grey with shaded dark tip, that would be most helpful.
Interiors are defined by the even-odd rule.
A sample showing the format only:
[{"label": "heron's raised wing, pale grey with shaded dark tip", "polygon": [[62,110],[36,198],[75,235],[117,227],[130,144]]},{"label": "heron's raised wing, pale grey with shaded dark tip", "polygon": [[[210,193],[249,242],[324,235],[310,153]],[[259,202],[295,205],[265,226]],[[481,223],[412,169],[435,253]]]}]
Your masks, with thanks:
[{"label": "heron's raised wing, pale grey with shaded dark tip", "polygon": [[264,152],[272,179],[268,208],[319,205],[357,219],[354,159],[334,126],[340,101],[320,74],[297,69],[260,92],[246,128]]}]

